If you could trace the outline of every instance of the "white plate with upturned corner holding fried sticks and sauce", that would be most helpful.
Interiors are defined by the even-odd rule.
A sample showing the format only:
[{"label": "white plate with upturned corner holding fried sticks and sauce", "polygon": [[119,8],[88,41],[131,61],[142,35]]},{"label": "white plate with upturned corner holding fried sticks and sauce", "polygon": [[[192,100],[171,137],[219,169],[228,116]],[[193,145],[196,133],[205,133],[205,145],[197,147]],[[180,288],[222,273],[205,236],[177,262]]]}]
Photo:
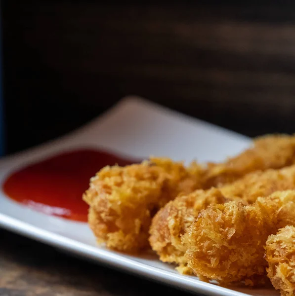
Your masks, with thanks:
[{"label": "white plate with upturned corner holding fried sticks and sauce", "polygon": [[[97,147],[135,158],[222,161],[247,148],[250,139],[169,111],[137,97],[126,97],[81,129],[38,148],[0,160],[0,184],[17,168],[64,150]],[[119,147],[119,149],[118,149]],[[85,188],[86,189],[86,188]],[[86,223],[47,216],[8,199],[0,191],[0,226],[93,261],[205,295],[278,295],[273,289],[223,288],[178,274],[156,256],[132,257],[97,246]]]}]

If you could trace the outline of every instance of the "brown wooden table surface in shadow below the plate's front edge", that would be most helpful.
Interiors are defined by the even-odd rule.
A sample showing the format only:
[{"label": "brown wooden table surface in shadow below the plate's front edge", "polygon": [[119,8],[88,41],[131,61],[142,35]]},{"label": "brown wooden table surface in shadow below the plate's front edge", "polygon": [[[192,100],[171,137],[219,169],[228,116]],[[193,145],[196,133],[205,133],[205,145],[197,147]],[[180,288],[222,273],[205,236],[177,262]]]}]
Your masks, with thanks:
[{"label": "brown wooden table surface in shadow below the plate's front edge", "polygon": [[189,295],[0,230],[0,296]]}]

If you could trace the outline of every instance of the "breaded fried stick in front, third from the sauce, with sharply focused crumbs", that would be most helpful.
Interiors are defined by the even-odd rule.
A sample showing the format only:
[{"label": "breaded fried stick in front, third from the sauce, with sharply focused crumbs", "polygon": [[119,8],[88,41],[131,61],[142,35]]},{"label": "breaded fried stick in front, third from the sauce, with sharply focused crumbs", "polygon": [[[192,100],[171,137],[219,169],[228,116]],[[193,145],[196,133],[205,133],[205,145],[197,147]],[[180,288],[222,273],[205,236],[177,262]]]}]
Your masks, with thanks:
[{"label": "breaded fried stick in front, third from the sauce, with sharply focused crumbs", "polygon": [[265,277],[268,236],[288,224],[295,224],[295,190],[259,197],[248,206],[211,205],[183,235],[185,258],[202,280],[254,285]]}]

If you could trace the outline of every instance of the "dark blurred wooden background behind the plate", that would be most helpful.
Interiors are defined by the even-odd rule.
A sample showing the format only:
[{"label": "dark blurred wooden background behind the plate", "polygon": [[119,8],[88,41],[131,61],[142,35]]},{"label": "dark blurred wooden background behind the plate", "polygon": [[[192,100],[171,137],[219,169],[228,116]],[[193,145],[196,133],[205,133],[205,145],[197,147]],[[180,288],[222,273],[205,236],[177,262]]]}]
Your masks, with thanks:
[{"label": "dark blurred wooden background behind the plate", "polygon": [[295,3],[204,2],[2,1],[6,153],[130,94],[248,136],[295,132]]}]

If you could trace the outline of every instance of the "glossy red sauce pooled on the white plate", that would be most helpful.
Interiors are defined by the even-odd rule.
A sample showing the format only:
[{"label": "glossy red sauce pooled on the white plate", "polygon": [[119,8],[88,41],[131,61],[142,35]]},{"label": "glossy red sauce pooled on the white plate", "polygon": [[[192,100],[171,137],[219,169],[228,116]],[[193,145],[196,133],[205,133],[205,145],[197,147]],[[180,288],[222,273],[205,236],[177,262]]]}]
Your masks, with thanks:
[{"label": "glossy red sauce pooled on the white plate", "polygon": [[11,199],[45,214],[86,222],[88,206],[82,194],[89,179],[106,165],[136,162],[93,149],[63,152],[12,173],[4,182],[3,191]]}]

